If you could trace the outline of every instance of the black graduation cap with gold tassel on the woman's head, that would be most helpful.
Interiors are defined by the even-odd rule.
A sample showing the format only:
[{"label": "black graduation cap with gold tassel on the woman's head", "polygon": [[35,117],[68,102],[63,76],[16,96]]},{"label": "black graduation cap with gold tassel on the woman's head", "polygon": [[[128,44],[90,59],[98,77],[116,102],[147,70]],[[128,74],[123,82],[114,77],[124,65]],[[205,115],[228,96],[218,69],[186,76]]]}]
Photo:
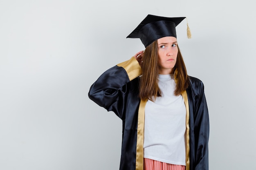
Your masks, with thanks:
[{"label": "black graduation cap with gold tassel on the woman's head", "polygon": [[[145,47],[159,38],[168,36],[177,38],[175,27],[185,18],[186,17],[168,18],[148,15],[126,38],[139,38]],[[188,24],[187,36],[191,38]]]}]

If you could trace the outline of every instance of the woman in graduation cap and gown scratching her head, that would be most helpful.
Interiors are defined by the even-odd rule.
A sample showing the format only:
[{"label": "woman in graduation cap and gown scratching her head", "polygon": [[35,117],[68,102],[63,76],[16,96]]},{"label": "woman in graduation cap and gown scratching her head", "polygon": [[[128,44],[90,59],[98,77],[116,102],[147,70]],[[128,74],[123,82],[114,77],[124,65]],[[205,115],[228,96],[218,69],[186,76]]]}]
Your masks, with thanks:
[{"label": "woman in graduation cap and gown scratching her head", "polygon": [[203,83],[186,73],[177,45],[182,18],[148,15],[128,38],[146,47],[103,73],[89,97],[123,121],[120,170],[208,170]]}]

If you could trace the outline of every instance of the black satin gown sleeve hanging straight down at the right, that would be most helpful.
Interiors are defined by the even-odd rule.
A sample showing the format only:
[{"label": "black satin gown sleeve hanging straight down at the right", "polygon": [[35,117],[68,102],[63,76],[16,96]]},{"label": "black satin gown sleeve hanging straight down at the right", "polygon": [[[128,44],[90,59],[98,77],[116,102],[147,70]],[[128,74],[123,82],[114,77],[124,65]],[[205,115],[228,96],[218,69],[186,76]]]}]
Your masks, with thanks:
[{"label": "black satin gown sleeve hanging straight down at the right", "polygon": [[195,95],[194,135],[195,135],[195,170],[209,169],[209,114],[204,95],[204,84],[198,82],[198,94]]}]

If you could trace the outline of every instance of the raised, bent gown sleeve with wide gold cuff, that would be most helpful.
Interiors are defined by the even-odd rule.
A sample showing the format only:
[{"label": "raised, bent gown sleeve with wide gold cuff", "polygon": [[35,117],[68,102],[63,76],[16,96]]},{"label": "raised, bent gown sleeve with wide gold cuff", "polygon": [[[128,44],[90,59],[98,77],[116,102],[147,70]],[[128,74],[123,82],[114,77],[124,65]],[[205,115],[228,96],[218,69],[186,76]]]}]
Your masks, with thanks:
[{"label": "raised, bent gown sleeve with wide gold cuff", "polygon": [[141,67],[135,57],[132,57],[105,71],[92,84],[88,96],[99,106],[124,119],[127,93],[130,90],[127,84],[139,75]]}]

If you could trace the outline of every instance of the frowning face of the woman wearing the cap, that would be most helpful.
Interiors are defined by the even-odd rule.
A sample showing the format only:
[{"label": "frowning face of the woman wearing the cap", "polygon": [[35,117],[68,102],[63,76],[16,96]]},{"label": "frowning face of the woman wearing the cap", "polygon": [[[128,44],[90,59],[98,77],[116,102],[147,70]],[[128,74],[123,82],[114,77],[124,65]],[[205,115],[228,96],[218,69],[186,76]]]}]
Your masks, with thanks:
[{"label": "frowning face of the woman wearing the cap", "polygon": [[175,37],[163,37],[157,40],[159,74],[171,74],[176,64],[178,47]]}]

